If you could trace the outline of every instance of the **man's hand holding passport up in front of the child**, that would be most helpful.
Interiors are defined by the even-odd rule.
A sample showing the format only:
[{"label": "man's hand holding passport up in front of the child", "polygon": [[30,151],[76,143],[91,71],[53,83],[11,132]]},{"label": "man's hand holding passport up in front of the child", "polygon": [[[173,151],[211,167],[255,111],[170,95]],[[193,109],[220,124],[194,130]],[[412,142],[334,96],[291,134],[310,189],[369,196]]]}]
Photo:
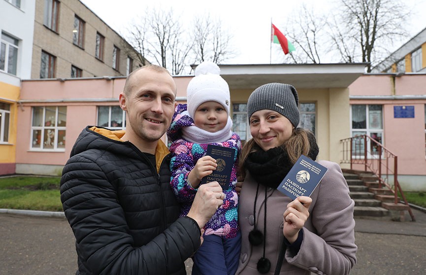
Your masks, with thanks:
[{"label": "man's hand holding passport up in front of the child", "polygon": [[225,194],[217,181],[202,184],[189,210],[188,217],[196,220],[199,228],[203,228],[216,210],[224,203]]}]

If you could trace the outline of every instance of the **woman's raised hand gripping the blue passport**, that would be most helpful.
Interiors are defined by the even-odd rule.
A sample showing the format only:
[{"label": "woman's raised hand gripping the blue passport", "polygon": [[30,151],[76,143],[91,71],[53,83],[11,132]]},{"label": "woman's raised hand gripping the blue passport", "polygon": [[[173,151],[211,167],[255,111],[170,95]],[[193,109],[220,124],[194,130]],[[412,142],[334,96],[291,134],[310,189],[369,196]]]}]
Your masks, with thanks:
[{"label": "woman's raised hand gripping the blue passport", "polygon": [[302,196],[297,197],[293,202],[287,205],[287,209],[283,214],[283,234],[290,243],[297,240],[300,229],[305,225],[309,217],[308,210],[311,203],[311,198]]}]

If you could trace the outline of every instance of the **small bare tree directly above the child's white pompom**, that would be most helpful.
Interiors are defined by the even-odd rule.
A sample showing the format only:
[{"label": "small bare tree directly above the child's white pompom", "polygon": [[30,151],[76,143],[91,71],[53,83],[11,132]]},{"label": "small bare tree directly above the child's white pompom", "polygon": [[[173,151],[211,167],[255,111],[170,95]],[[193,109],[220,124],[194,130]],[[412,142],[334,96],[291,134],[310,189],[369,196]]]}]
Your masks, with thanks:
[{"label": "small bare tree directly above the child's white pompom", "polygon": [[208,60],[219,64],[236,55],[230,44],[232,34],[210,15],[194,18],[192,36],[196,62]]}]

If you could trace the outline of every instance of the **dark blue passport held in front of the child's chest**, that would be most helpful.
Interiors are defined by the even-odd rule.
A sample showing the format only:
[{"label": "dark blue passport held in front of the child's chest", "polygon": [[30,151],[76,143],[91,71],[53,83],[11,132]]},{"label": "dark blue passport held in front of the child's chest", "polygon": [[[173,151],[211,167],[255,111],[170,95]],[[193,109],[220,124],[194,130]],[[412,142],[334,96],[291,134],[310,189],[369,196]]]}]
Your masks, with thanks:
[{"label": "dark blue passport held in front of the child's chest", "polygon": [[229,189],[232,167],[234,165],[235,149],[217,145],[207,145],[206,155],[216,160],[216,170],[203,177],[201,183],[217,181],[222,186],[222,190]]}]

